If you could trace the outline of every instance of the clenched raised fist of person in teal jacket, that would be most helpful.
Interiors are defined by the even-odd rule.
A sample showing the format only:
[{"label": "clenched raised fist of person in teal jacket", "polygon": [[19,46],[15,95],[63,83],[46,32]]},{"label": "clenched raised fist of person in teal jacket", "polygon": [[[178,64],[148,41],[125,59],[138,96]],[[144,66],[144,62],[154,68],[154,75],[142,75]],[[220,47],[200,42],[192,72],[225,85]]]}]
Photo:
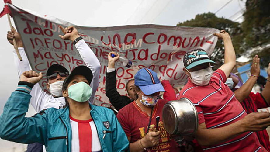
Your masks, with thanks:
[{"label": "clenched raised fist of person in teal jacket", "polygon": [[35,85],[42,78],[42,73],[36,73],[36,71],[24,71],[20,77],[20,81],[29,82]]}]

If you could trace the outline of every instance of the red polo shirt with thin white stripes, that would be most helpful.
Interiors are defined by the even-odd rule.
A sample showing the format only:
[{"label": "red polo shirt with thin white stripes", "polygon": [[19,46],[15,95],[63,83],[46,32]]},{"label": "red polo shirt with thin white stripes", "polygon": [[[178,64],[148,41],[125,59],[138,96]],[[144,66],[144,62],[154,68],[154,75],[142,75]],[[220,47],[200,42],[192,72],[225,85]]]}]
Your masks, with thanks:
[{"label": "red polo shirt with thin white stripes", "polygon": [[[190,80],[179,93],[178,98],[188,98],[196,106],[199,124],[206,124],[207,129],[220,128],[244,118],[247,115],[234,93],[225,85],[225,73],[216,70],[206,86],[197,86]],[[260,152],[266,151],[255,133],[245,132],[218,145],[202,146],[206,152]]]}]

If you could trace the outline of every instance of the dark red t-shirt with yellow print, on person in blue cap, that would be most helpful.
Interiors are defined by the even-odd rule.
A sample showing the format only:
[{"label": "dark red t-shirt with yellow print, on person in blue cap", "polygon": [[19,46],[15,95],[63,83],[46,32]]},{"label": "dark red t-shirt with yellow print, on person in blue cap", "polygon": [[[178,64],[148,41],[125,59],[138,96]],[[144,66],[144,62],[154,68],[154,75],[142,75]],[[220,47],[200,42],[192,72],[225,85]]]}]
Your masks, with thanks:
[{"label": "dark red t-shirt with yellow print, on person in blue cap", "polygon": [[[180,151],[175,141],[165,130],[162,122],[162,108],[167,102],[167,100],[159,99],[157,101],[157,104],[154,106],[149,131],[155,130],[155,118],[157,116],[160,116],[160,120],[158,122],[160,140],[159,145],[148,148],[148,150],[150,150],[151,152]],[[126,136],[131,137],[130,143],[136,142],[137,140],[145,137],[150,116],[148,116],[147,113],[142,111],[135,101],[120,109],[117,114],[117,119],[120,122],[123,130],[125,131]]]}]

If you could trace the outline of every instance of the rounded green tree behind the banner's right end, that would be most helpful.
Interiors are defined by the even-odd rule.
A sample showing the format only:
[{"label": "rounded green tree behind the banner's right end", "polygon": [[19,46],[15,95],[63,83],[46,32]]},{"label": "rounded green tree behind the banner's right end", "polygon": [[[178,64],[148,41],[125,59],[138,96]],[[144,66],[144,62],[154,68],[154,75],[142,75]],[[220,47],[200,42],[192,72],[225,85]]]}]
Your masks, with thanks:
[{"label": "rounded green tree behind the banner's right end", "polygon": [[[216,29],[225,29],[231,36],[234,49],[237,55],[244,52],[242,49],[242,29],[238,22],[225,19],[223,17],[217,17],[214,13],[208,12],[196,15],[195,19],[187,20],[185,22],[179,22],[177,26],[193,26],[193,27],[211,27]],[[216,47],[210,57],[216,62],[215,67],[220,67],[223,64],[224,48],[221,40],[218,40]]]}]

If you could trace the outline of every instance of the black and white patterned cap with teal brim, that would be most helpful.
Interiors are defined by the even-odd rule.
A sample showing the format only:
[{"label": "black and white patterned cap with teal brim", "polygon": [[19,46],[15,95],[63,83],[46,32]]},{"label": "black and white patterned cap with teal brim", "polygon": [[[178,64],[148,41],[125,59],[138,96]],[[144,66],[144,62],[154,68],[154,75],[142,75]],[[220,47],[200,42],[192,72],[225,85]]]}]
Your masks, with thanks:
[{"label": "black and white patterned cap with teal brim", "polygon": [[201,48],[187,52],[184,55],[183,62],[186,69],[191,69],[192,67],[203,63],[215,63],[214,61],[209,59],[206,51]]}]

